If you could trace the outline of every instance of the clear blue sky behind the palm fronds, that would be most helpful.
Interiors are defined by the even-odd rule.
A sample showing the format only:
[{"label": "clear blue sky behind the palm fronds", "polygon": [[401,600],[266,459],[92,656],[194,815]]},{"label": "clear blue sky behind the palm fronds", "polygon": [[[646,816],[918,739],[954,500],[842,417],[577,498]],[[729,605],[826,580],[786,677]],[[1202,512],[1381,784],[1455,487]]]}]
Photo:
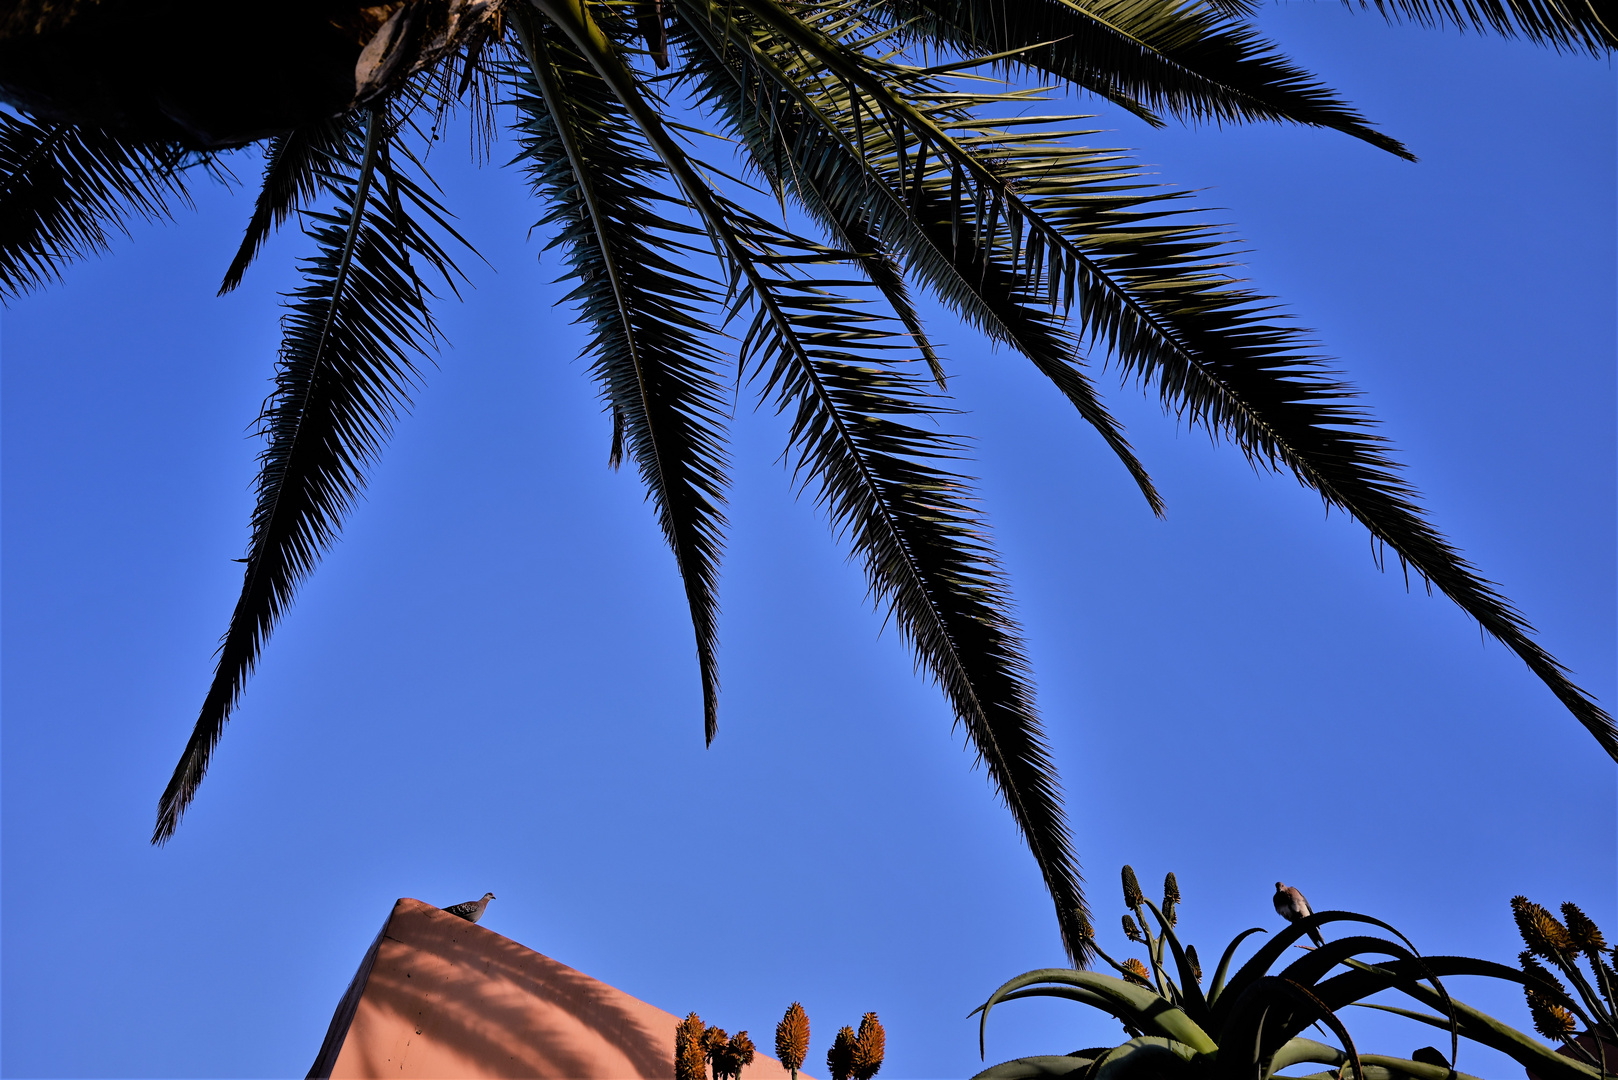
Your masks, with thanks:
[{"label": "clear blue sky behind the palm fronds", "polygon": [[[1612,66],[1335,5],[1262,21],[1422,162],[1097,108],[1107,141],[1235,223],[1435,520],[1612,708]],[[801,999],[819,1062],[875,1009],[883,1075],[969,1075],[966,1012],[1061,959],[1008,814],[793,499],[767,413],[735,429],[702,748],[673,560],[605,468],[558,261],[526,238],[540,209],[515,170],[463,162],[435,175],[493,269],[442,308],[451,347],[162,850],[150,814],[239,586],[246,429],[303,241],[215,300],[251,193],[205,189],[0,316],[0,1070],[303,1075],[392,902],[489,889],[489,928],[671,1012],[757,1036]],[[1125,861],[1178,873],[1204,955],[1278,926],[1277,878],[1424,952],[1510,960],[1516,892],[1618,931],[1613,764],[1514,656],[1379,573],[1314,495],[1100,376],[1168,499],[1154,520],[1026,364],[942,316],[937,335],[1110,949]],[[1451,989],[1526,1025],[1514,994]],[[1351,1022],[1366,1049],[1432,1041]],[[1115,1038],[1016,1004],[989,1057]]]}]

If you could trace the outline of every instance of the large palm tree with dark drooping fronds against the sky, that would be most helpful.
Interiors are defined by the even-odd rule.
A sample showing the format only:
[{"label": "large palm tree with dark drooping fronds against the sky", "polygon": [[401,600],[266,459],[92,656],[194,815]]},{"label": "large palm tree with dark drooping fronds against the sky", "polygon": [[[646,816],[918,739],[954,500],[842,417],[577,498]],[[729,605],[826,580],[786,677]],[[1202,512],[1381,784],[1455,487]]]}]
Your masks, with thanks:
[{"label": "large palm tree with dark drooping fronds against the sky", "polygon": [[[1379,10],[1594,55],[1618,44],[1594,5],[1560,0]],[[131,11],[31,0],[0,23],[0,87],[21,110],[0,115],[5,295],[105,249],[131,215],[168,215],[248,144],[264,144],[264,181],[220,291],[291,214],[312,241],[259,418],[241,596],[154,842],[178,826],[264,640],[408,403],[437,340],[432,288],[461,280],[450,253],[464,241],[421,147],[456,108],[492,138],[497,102],[515,110],[516,159],[576,280],[610,461],[639,471],[684,583],[705,738],[726,387],[746,381],[790,418],[798,478],[964,725],[1074,962],[1092,934],[1057,769],[985,521],[951,465],[961,447],[940,434],[948,372],[916,285],[1047,376],[1154,512],[1091,358],[1359,520],[1618,758],[1608,714],[1427,523],[1351,387],[1230,277],[1225,236],[1086,146],[1076,118],[1031,112],[1040,94],[1013,81],[1068,83],[1150,123],[1301,123],[1411,157],[1265,42],[1244,0],[307,0],[246,36],[238,15],[201,5],[168,21]],[[228,65],[199,60],[225,39]],[[113,74],[86,84],[84,70]],[[697,152],[684,121],[697,117],[812,230],[749,209],[751,185]],[[709,332],[715,314],[735,356]]]}]

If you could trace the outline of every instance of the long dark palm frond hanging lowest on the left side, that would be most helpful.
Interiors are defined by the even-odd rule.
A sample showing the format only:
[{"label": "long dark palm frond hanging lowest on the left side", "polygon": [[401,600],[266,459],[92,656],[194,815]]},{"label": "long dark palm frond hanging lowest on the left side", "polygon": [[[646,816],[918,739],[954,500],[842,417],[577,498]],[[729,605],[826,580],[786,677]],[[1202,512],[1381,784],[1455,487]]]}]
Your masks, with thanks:
[{"label": "long dark palm frond hanging lowest on the left side", "polygon": [[320,173],[335,207],[306,212],[317,253],[288,304],[275,390],[259,418],[267,445],[241,596],[191,738],[159,800],[154,844],[180,824],[264,641],[335,541],[408,406],[413,358],[435,340],[416,264],[445,280],[455,269],[404,212],[409,202],[442,222],[437,204],[400,173],[392,138],[385,107],[369,110],[362,141],[333,146]]}]

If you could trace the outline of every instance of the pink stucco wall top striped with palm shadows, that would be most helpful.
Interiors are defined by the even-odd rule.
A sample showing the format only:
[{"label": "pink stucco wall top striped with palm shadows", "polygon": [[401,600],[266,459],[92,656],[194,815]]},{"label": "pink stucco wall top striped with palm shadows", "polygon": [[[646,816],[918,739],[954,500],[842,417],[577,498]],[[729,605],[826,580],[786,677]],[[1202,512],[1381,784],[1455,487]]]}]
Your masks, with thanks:
[{"label": "pink stucco wall top striped with palm shadows", "polygon": [[[510,938],[406,899],[361,963],[309,1075],[673,1080],[678,1022]],[[769,1043],[773,1028],[752,1035]],[[759,1054],[743,1080],[786,1075]]]}]

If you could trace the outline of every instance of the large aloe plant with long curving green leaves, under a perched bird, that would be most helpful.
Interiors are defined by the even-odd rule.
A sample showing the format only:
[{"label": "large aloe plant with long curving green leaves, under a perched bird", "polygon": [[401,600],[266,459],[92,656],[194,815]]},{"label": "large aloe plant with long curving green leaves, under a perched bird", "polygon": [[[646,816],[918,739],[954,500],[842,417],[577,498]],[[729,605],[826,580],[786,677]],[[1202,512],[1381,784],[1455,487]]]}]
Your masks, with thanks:
[{"label": "large aloe plant with long curving green leaves, under a perched bird", "polygon": [[[1018,1057],[985,1069],[976,1080],[1269,1080],[1283,1075],[1312,1080],[1476,1080],[1456,1069],[1461,1040],[1510,1056],[1539,1080],[1613,1075],[1612,1065],[1603,1074],[1599,1062],[1589,1061],[1589,1054],[1574,1054],[1576,1048],[1558,1052],[1455,999],[1442,981],[1456,975],[1505,980],[1521,984],[1531,1001],[1542,999],[1576,1017],[1589,1031],[1599,1031],[1600,1023],[1610,1022],[1610,996],[1603,999],[1607,1010],[1600,1012],[1582,996],[1579,1001],[1569,997],[1535,963],[1524,963],[1519,970],[1471,957],[1424,957],[1403,934],[1377,918],[1354,912],[1317,912],[1290,925],[1236,963],[1243,942],[1265,933],[1259,926],[1244,929],[1225,947],[1212,980],[1204,986],[1192,950],[1181,944],[1163,908],[1141,894],[1139,886],[1129,887],[1133,873],[1125,881],[1126,899],[1134,902],[1131,907],[1136,908],[1147,946],[1149,970],[1144,980],[1131,967],[1147,965],[1118,963],[1092,942],[1095,955],[1116,975],[1073,968],[1027,972],[995,989],[974,1015],[979,1015],[981,1049],[990,1009],[1026,997],[1060,997],[1099,1009],[1115,1017],[1129,1038],[1116,1046],[1079,1049],[1065,1056]],[[1563,955],[1571,962],[1571,954],[1561,946],[1574,941],[1573,931],[1563,926],[1563,938],[1535,913],[1529,912],[1529,916],[1540,931],[1548,931],[1535,938],[1535,942],[1555,946],[1550,959],[1555,962],[1557,955]],[[1608,978],[1610,986],[1610,976],[1600,968],[1603,942],[1599,931],[1592,933],[1594,923],[1587,928],[1587,920],[1568,918],[1579,926],[1581,949],[1589,946],[1595,954],[1592,976],[1597,981]],[[1519,915],[1519,923],[1521,920]],[[1311,929],[1328,925],[1382,933],[1354,933],[1307,949],[1302,957],[1288,959],[1293,946],[1306,941]],[[1531,942],[1529,947],[1539,946]],[[1385,991],[1398,991],[1425,1009],[1367,1002]],[[1411,1057],[1361,1052],[1338,1017],[1348,1006],[1383,1009],[1438,1028],[1448,1035],[1448,1052],[1430,1046]],[[1315,1025],[1330,1031],[1338,1044],[1307,1038],[1306,1031]],[[1328,1070],[1301,1072],[1301,1067],[1311,1064],[1327,1065]]]}]

